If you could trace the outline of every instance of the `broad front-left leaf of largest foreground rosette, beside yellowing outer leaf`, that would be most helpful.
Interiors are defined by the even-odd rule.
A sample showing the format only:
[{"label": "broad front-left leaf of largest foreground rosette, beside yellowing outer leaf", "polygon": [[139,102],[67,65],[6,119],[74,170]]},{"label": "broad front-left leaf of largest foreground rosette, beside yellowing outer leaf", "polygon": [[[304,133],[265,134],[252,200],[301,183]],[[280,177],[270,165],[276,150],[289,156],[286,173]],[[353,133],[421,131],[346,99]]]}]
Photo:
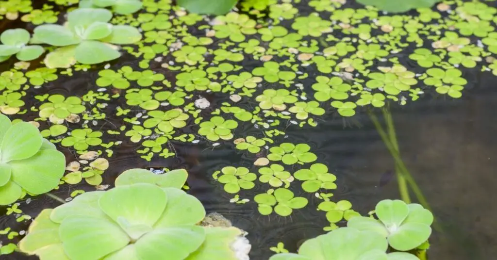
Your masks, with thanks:
[{"label": "broad front-left leaf of largest foreground rosette, beside yellowing outer leaf", "polygon": [[128,245],[129,237],[109,220],[88,216],[68,218],[59,228],[70,259],[101,259]]}]

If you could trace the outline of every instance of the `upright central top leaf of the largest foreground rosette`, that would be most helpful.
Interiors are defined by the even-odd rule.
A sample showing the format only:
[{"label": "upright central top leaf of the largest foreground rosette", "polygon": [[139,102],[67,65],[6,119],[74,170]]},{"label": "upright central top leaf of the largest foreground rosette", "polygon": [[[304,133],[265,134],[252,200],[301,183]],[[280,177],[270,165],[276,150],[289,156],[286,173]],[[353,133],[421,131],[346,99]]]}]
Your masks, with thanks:
[{"label": "upright central top leaf of the largest foreground rosette", "polygon": [[[117,201],[119,203],[116,203]],[[166,192],[160,187],[149,183],[137,183],[106,191],[98,204],[105,214],[129,234],[129,229],[133,226],[152,227],[161,217],[166,202]]]}]

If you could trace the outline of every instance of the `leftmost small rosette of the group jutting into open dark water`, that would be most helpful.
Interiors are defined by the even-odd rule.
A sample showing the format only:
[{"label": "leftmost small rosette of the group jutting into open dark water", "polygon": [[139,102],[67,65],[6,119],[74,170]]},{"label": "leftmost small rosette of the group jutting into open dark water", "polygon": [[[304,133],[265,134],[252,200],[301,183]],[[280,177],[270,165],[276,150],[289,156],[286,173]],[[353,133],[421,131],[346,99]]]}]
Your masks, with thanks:
[{"label": "leftmost small rosette of the group jutting into open dark water", "polygon": [[253,181],[257,178],[255,173],[250,173],[245,167],[235,168],[233,166],[223,167],[223,175],[219,176],[218,181],[224,183],[224,190],[228,193],[237,193],[240,188],[251,189],[255,186]]}]

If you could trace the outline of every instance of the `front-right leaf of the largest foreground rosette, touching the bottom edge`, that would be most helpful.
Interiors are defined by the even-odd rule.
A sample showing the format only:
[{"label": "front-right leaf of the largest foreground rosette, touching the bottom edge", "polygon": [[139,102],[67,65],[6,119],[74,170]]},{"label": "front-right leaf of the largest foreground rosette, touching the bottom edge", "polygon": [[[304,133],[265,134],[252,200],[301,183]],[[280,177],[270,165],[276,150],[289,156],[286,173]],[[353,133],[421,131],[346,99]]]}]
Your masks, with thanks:
[{"label": "front-right leaf of the largest foreground rosette, touching the bottom edge", "polygon": [[204,239],[203,227],[161,228],[140,238],[135,246],[140,259],[185,259]]}]

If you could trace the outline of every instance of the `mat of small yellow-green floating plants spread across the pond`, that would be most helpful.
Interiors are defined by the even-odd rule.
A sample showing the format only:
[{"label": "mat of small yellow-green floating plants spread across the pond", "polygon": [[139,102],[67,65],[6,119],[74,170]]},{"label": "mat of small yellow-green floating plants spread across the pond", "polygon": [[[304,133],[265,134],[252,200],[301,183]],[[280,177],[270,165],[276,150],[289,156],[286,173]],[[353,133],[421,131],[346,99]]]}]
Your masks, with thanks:
[{"label": "mat of small yellow-green floating plants spread across the pond", "polygon": [[[1,0],[0,18],[29,28],[62,24],[61,14],[77,4],[50,0],[33,9],[31,0]],[[432,95],[460,98],[471,87],[467,73],[497,75],[497,9],[483,1],[444,0],[395,14],[352,0],[246,0],[219,16],[188,13],[171,0],[143,0],[133,14],[116,4],[98,7],[114,11],[109,23],[143,36],[121,46],[115,62],[47,68],[42,58],[0,57],[1,113],[33,118],[44,138],[80,159],[69,163],[61,184],[102,188],[113,148],[123,142],[146,161],[177,156],[179,143],[234,148],[254,167],[220,166],[213,174],[232,202],[285,217],[307,206],[312,193],[330,222],[325,230],[358,213],[348,201],[330,200],[333,166],[308,144],[284,140],[289,125],[314,127]],[[44,46],[45,54],[54,49]],[[48,90],[73,77],[88,87]],[[241,198],[256,185],[267,189]],[[30,219],[19,206],[7,214]]]}]

